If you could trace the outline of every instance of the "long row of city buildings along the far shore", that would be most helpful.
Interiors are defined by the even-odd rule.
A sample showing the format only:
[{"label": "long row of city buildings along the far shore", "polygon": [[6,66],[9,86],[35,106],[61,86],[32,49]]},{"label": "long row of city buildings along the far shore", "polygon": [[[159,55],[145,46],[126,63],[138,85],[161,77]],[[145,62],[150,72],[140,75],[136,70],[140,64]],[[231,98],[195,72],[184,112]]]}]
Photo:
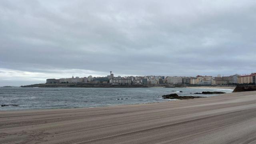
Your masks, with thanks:
[{"label": "long row of city buildings along the far shore", "polygon": [[75,77],[47,79],[47,84],[56,83],[110,83],[110,84],[201,84],[201,85],[224,85],[224,84],[255,84],[256,73],[249,75],[235,74],[232,76],[196,76],[196,77],[178,77],[178,76],[117,76],[110,72],[106,77]]}]

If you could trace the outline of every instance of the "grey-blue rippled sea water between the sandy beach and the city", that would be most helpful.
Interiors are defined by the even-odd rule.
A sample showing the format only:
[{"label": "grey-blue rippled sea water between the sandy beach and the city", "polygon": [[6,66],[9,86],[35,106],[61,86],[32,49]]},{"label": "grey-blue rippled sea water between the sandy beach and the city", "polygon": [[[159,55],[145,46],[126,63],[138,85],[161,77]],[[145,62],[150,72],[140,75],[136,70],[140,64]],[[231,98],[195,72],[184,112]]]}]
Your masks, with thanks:
[{"label": "grey-blue rippled sea water between the sandy beach and the city", "polygon": [[[175,92],[172,92],[175,91]],[[182,91],[180,93],[179,91]],[[195,88],[0,88],[0,110],[81,108],[122,104],[165,102],[162,95],[176,93],[179,96],[216,96],[216,94],[190,94],[202,91],[232,92],[224,89]],[[123,98],[124,100],[118,100]]]}]

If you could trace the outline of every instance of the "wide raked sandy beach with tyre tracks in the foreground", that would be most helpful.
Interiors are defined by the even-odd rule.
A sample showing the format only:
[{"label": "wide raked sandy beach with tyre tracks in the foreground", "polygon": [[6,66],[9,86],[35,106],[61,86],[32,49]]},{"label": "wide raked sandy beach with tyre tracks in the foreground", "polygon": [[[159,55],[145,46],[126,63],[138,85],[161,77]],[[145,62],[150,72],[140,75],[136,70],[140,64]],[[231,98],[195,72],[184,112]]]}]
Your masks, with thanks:
[{"label": "wide raked sandy beach with tyre tracks in the foreground", "polygon": [[152,104],[0,111],[1,144],[255,144],[256,92]]}]

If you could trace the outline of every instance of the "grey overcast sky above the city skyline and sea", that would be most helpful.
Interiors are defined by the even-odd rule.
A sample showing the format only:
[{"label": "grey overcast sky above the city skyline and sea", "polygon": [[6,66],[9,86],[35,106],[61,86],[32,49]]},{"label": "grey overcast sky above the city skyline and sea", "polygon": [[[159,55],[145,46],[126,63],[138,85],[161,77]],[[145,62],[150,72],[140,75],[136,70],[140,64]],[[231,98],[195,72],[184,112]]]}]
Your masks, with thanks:
[{"label": "grey overcast sky above the city skyline and sea", "polygon": [[0,0],[0,86],[256,72],[255,0]]}]

